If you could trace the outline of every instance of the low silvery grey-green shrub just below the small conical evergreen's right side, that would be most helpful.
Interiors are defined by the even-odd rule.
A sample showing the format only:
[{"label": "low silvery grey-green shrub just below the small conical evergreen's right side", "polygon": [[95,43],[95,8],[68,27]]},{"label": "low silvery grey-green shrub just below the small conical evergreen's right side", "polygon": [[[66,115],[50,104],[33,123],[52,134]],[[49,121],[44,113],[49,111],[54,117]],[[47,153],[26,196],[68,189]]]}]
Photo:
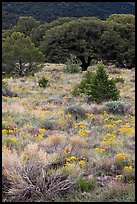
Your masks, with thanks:
[{"label": "low silvery grey-green shrub just below the small conical evergreen's right side", "polygon": [[130,105],[121,101],[108,101],[105,103],[108,111],[113,114],[126,114],[129,112]]}]

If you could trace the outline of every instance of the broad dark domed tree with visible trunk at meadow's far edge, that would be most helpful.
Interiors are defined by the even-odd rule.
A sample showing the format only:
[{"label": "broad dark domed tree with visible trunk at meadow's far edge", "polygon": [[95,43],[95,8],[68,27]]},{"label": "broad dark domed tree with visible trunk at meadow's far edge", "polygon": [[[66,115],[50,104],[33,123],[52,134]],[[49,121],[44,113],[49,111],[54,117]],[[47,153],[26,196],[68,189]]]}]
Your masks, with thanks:
[{"label": "broad dark domed tree with visible trunk at meadow's far edge", "polygon": [[65,63],[70,54],[77,56],[82,71],[87,70],[92,59],[100,59],[99,39],[109,27],[95,17],[82,17],[45,32],[40,50],[48,62]]}]

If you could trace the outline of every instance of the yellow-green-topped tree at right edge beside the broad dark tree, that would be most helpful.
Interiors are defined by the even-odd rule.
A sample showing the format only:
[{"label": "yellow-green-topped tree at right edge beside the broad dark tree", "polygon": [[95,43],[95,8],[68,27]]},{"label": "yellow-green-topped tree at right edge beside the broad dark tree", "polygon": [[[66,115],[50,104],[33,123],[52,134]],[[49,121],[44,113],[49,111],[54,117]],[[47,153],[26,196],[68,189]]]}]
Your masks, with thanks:
[{"label": "yellow-green-topped tree at right edge beside the broad dark tree", "polygon": [[[107,22],[113,31],[122,38],[117,47],[117,62],[121,67],[132,68],[135,66],[135,16],[131,14],[113,14]],[[110,38],[111,39],[111,38]]]}]

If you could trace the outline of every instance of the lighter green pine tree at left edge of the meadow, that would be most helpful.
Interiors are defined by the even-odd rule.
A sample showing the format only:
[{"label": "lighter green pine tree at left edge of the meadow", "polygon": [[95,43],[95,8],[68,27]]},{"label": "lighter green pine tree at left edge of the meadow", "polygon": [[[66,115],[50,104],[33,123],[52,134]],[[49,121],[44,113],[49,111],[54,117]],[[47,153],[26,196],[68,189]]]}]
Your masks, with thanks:
[{"label": "lighter green pine tree at left edge of the meadow", "polygon": [[23,33],[14,32],[10,37],[3,38],[2,68],[4,73],[23,76],[30,72],[37,62],[43,60],[43,54]]}]

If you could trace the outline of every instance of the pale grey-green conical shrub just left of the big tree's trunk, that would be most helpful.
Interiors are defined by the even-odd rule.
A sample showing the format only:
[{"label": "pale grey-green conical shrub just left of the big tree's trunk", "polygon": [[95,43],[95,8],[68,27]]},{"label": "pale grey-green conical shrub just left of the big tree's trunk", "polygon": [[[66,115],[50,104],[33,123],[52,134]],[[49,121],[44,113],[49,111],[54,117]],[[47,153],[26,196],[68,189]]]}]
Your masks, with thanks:
[{"label": "pale grey-green conical shrub just left of the big tree's trunk", "polygon": [[67,60],[67,65],[64,68],[65,73],[79,73],[80,67],[77,63],[76,57],[74,55],[70,55],[70,59]]}]

